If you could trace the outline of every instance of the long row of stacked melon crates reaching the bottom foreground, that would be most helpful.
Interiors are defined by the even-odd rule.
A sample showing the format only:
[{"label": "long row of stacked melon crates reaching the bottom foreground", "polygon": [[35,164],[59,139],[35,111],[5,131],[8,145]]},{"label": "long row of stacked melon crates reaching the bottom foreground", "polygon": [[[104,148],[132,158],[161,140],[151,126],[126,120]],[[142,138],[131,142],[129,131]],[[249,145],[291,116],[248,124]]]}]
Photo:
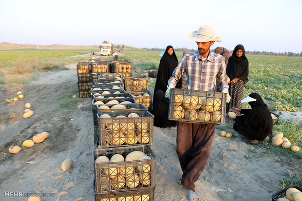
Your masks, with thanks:
[{"label": "long row of stacked melon crates reaching the bottom foreground", "polygon": [[[124,90],[121,78],[118,73],[101,73],[91,88],[97,138],[92,151],[94,200],[154,201],[154,116]],[[137,158],[133,151],[142,155]],[[115,154],[121,159],[113,159]]]}]

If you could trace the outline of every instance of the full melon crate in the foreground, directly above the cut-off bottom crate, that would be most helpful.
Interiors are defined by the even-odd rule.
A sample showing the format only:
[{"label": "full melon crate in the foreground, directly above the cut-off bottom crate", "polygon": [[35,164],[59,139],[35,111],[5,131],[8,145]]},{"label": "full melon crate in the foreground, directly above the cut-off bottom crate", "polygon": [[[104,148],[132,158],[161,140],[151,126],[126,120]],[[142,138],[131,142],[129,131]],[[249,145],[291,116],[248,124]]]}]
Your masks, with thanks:
[{"label": "full melon crate in the foreground, directly above the cut-off bottom crate", "polygon": [[[95,159],[102,155],[111,159],[118,153],[125,159],[132,151],[142,151],[151,159],[95,163]],[[148,145],[95,149],[92,156],[96,193],[136,191],[155,187],[155,155]]]}]

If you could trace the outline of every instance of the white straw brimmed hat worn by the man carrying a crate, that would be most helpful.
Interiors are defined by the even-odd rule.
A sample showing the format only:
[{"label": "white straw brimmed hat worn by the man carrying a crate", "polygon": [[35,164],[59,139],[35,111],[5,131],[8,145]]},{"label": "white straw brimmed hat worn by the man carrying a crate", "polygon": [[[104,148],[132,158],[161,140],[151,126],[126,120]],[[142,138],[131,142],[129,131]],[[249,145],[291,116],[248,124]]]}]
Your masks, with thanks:
[{"label": "white straw brimmed hat worn by the man carrying a crate", "polygon": [[197,42],[221,41],[221,38],[215,36],[215,28],[208,25],[201,25],[198,31],[189,34],[189,38]]}]

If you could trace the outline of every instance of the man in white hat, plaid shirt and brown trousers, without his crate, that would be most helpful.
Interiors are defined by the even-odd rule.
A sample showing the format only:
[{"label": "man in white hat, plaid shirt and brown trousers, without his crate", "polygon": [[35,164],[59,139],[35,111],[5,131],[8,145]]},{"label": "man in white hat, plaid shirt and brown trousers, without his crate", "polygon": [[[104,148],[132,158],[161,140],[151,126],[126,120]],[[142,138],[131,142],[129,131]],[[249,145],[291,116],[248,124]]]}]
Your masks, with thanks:
[{"label": "man in white hat, plaid shirt and brown trousers, without his crate", "polygon": [[[228,94],[225,58],[210,51],[215,41],[221,41],[215,36],[215,28],[202,25],[198,31],[189,34],[189,38],[197,44],[198,51],[186,54],[174,69],[168,81],[166,97],[170,97],[170,89],[186,73],[186,89],[215,91],[216,76],[218,89]],[[179,183],[188,194],[189,201],[199,201],[195,193],[194,183],[207,164],[214,140],[215,124],[193,124],[178,122],[177,126],[177,155],[183,171]]]}]

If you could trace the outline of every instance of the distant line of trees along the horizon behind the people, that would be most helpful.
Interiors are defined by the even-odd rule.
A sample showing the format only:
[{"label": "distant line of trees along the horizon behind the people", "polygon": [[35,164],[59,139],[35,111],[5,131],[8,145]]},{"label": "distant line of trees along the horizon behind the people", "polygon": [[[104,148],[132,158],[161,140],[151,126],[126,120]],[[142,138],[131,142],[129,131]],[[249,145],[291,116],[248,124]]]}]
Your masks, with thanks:
[{"label": "distant line of trees along the horizon behind the people", "polygon": [[[163,48],[142,48],[144,50],[159,50],[159,51],[163,51],[166,49]],[[174,48],[175,51],[181,51],[184,52],[185,50],[188,50],[189,52],[192,51],[197,51],[195,49],[188,49],[188,48]],[[211,50],[214,51],[214,50]],[[233,50],[229,50],[231,53],[233,52]],[[273,56],[301,56],[302,57],[302,52],[301,53],[295,53],[295,52],[272,52],[272,51],[245,51],[246,54],[255,54],[255,55],[273,55]]]}]

